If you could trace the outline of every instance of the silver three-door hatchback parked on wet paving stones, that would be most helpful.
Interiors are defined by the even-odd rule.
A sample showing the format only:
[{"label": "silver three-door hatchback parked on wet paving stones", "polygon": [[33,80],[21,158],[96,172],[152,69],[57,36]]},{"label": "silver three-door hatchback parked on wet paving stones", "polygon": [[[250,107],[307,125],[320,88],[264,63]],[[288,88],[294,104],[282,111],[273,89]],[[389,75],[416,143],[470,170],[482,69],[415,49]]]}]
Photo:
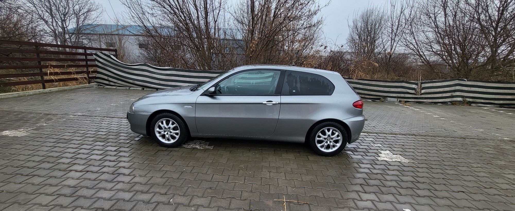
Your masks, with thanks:
[{"label": "silver three-door hatchback parked on wet paving stones", "polygon": [[338,73],[284,65],[236,67],[145,95],[127,119],[164,147],[189,137],[259,139],[306,143],[323,156],[355,142],[365,124],[363,101]]}]

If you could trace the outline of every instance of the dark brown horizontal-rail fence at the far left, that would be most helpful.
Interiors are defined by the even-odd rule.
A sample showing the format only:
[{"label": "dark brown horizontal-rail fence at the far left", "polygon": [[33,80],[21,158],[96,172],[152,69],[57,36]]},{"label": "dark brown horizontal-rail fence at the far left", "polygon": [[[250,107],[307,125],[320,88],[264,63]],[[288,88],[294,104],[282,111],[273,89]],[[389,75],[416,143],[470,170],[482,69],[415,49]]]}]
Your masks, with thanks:
[{"label": "dark brown horizontal-rail fence at the far left", "polygon": [[[42,49],[41,47],[44,47]],[[55,50],[62,49],[62,50]],[[67,50],[66,50],[67,49]],[[82,52],[78,52],[82,51]],[[97,47],[86,47],[86,46],[75,46],[75,45],[58,45],[50,43],[38,43],[38,42],[25,42],[25,41],[11,41],[11,40],[0,40],[0,53],[16,53],[16,54],[29,54],[34,55],[32,57],[1,57],[0,62],[35,62],[35,64],[5,64],[0,65],[0,69],[35,69],[39,72],[35,73],[12,73],[12,74],[0,74],[0,80],[6,78],[21,78],[21,77],[40,77],[39,80],[27,80],[27,81],[13,81],[13,82],[0,82],[0,87],[15,86],[15,85],[28,85],[28,84],[39,84],[41,83],[42,89],[46,89],[45,83],[64,82],[64,81],[77,81],[85,79],[90,83],[91,79],[95,79],[95,76],[90,74],[96,74],[97,71],[93,70],[96,68],[96,62],[93,58],[91,51],[107,51],[111,55],[117,57],[117,50],[114,48],[97,48]],[[114,54],[112,54],[114,52]],[[41,55],[54,55],[54,57],[41,57]],[[55,56],[60,55],[60,56]],[[82,58],[79,58],[82,57]],[[70,64],[43,64],[42,62],[70,62]],[[43,69],[52,68],[85,68],[81,71],[64,71],[64,72],[44,72]],[[53,78],[45,79],[45,76],[58,76],[58,75],[78,75],[85,74],[86,76],[72,77],[72,78]]]}]

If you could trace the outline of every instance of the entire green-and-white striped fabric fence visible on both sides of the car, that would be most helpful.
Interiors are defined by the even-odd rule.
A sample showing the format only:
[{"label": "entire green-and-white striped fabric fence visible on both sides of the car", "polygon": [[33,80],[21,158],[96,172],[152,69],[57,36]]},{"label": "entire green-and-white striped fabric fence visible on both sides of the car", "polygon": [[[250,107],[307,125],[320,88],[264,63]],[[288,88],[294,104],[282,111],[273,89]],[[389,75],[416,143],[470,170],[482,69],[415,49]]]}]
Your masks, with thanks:
[{"label": "entire green-and-white striped fabric fence visible on both sides of the car", "polygon": [[[144,87],[167,89],[170,87],[191,85],[207,81],[222,71],[198,71],[157,67],[150,64],[127,64],[115,57],[97,52],[97,76],[95,82],[100,85]],[[268,75],[246,76],[238,83],[270,81]],[[252,80],[250,80],[252,79]],[[363,99],[380,100],[384,97],[398,98],[406,102],[448,103],[464,101],[472,106],[496,106],[515,108],[515,82],[473,81],[467,79],[449,79],[434,81],[380,81],[346,78]]]}]

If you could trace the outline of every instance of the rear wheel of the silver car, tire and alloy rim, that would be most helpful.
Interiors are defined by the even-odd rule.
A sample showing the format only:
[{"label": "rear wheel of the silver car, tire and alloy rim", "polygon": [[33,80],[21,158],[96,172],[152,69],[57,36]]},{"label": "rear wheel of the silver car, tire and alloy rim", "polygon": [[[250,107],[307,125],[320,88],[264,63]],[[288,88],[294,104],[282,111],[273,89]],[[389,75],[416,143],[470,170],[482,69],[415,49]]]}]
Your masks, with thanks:
[{"label": "rear wheel of the silver car, tire and alloy rim", "polygon": [[[328,132],[330,135],[327,135]],[[340,153],[347,146],[349,139],[345,128],[336,122],[323,122],[315,126],[309,138],[308,145],[315,153],[322,156],[333,156]],[[321,146],[318,147],[320,144]]]}]

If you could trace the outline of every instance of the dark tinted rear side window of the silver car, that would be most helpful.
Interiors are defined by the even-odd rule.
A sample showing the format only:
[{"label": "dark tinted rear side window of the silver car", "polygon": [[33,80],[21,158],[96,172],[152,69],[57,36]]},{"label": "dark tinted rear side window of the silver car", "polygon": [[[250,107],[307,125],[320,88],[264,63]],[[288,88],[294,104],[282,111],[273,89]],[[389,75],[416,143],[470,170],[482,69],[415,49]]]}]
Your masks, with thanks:
[{"label": "dark tinted rear side window of the silver car", "polygon": [[282,95],[332,95],[334,85],[329,79],[298,71],[286,71]]}]

